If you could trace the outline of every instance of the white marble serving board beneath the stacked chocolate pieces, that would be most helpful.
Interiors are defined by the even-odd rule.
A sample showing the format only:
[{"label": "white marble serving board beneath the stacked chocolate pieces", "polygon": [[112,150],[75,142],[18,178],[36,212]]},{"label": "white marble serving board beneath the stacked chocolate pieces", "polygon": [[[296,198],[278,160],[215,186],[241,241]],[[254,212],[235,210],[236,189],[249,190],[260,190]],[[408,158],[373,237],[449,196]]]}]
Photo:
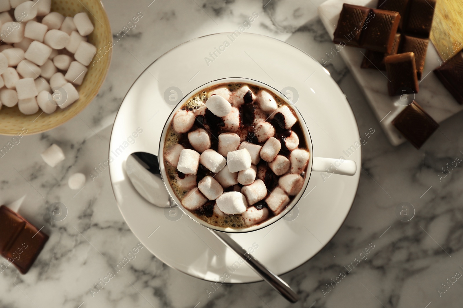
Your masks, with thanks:
[{"label": "white marble serving board beneath the stacked chocolate pieces", "polygon": [[[328,0],[322,3],[319,6],[319,17],[331,38],[333,38],[334,30],[338,24],[339,13],[341,12],[343,3],[376,7],[377,0]],[[423,78],[419,82],[419,93],[408,95],[407,97],[390,97],[388,95],[388,79],[386,77],[386,72],[360,68],[365,49],[348,46],[341,48],[339,45],[336,46],[337,49],[332,48],[327,51],[330,56],[326,54],[325,61],[329,63],[328,61],[330,58],[334,59],[334,57],[338,55],[343,58],[350,72],[352,72],[352,75],[360,85],[363,94],[367,98],[369,105],[373,109],[378,121],[380,121],[392,145],[400,145],[406,141],[400,132],[391,124],[391,121],[394,120],[395,116],[398,115],[407,104],[411,103],[413,97],[438,123],[463,109],[463,105],[457,103],[432,72],[433,69],[440,65],[441,59],[431,41],[429,42],[426,54]],[[339,49],[340,51],[337,52]]]}]

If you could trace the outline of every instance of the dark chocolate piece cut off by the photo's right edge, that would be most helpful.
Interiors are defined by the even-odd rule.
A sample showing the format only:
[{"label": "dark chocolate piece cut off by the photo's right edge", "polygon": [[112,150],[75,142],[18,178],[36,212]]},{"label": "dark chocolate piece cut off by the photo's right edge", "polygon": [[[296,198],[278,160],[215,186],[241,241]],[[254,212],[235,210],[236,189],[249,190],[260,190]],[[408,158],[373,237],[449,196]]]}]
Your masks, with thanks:
[{"label": "dark chocolate piece cut off by the photo's right edge", "polygon": [[463,104],[463,51],[445,61],[434,73],[457,102]]}]

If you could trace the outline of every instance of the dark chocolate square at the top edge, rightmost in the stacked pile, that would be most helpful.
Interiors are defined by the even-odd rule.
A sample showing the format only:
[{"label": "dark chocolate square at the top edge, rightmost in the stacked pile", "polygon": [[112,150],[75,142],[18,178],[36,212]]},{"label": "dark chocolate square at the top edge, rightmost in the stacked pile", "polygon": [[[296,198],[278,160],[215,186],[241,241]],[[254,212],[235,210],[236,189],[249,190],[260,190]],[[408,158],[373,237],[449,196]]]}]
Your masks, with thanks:
[{"label": "dark chocolate square at the top edge, rightmost in the stacked pile", "polygon": [[436,0],[410,0],[404,30],[413,36],[429,37]]}]

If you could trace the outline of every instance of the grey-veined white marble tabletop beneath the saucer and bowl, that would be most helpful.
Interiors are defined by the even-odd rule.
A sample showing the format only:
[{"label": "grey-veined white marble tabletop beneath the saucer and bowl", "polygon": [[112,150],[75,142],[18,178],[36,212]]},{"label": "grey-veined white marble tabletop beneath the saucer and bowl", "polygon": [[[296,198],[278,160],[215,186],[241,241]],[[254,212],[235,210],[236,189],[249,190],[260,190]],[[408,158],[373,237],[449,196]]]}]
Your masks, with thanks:
[{"label": "grey-veined white marble tabletop beneath the saucer and bowl", "polygon": [[[340,57],[327,68],[350,100],[360,133],[371,127],[375,133],[362,146],[360,187],[343,227],[327,249],[283,276],[300,294],[299,303],[289,304],[264,283],[222,284],[210,292],[209,282],[176,272],[143,248],[113,278],[105,278],[138,244],[115,204],[109,172],[100,168],[108,157],[115,112],[133,81],[170,48],[236,30],[254,11],[259,18],[247,31],[282,39],[322,62],[334,45],[317,17],[320,2],[104,1],[114,35],[138,12],[143,17],[115,39],[100,94],[79,117],[25,136],[0,157],[0,203],[25,196],[20,214],[50,235],[27,275],[13,266],[0,272],[0,307],[460,307],[463,282],[454,277],[463,273],[462,164],[449,168],[445,177],[441,171],[463,157],[463,114],[444,121],[419,151],[409,144],[393,147]],[[1,136],[0,145],[10,139]],[[66,154],[55,168],[39,155],[52,143]],[[75,172],[87,175],[77,194],[67,185]],[[68,211],[59,222],[50,220],[55,202]],[[407,222],[396,215],[402,202],[414,208]]]}]

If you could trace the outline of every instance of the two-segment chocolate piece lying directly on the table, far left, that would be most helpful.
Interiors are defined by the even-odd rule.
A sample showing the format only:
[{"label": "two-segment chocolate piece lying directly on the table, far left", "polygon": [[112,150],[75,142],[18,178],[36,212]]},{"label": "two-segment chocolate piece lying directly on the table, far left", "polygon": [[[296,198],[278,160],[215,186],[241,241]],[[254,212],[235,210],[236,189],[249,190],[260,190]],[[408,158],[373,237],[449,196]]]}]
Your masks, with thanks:
[{"label": "two-segment chocolate piece lying directly on the table, far left", "polygon": [[[0,254],[22,274],[29,271],[48,236],[6,206],[0,206]],[[0,270],[4,271],[5,265]]]}]

